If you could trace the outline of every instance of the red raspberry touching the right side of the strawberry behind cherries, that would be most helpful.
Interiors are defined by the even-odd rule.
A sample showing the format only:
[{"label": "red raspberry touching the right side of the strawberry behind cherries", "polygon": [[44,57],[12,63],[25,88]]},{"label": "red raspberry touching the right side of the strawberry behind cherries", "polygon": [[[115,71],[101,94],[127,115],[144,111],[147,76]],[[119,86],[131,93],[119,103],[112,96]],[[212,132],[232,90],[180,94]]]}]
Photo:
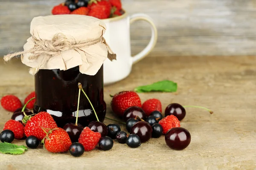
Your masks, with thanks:
[{"label": "red raspberry touching the right side of the strawberry behind cherries", "polygon": [[152,111],[162,112],[162,104],[158,99],[148,99],[143,103],[142,109],[145,111],[146,115],[149,116]]}]

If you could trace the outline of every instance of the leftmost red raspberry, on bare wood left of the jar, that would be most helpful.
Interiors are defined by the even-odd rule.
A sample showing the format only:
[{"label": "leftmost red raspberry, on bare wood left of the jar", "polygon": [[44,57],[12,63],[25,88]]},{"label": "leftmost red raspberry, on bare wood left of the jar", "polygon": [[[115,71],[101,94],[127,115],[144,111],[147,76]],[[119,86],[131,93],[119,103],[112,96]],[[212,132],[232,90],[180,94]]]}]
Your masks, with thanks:
[{"label": "leftmost red raspberry, on bare wood left of the jar", "polygon": [[14,95],[3,96],[1,99],[1,105],[5,110],[11,112],[14,112],[16,109],[22,107],[20,99]]}]

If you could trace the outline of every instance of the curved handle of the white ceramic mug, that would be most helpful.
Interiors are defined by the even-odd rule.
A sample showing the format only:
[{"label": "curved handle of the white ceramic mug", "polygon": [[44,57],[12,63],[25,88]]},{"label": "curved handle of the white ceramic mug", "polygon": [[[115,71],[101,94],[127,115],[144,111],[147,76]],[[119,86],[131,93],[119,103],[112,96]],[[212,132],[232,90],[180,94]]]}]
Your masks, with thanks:
[{"label": "curved handle of the white ceramic mug", "polygon": [[134,14],[130,16],[130,24],[134,23],[137,20],[144,20],[150,24],[151,27],[151,39],[148,43],[148,45],[141,51],[139,54],[132,57],[132,63],[135,64],[136,62],[139,62],[141,59],[146,57],[150,51],[154,48],[154,46],[157,43],[157,28],[153,23],[153,20],[151,17],[149,17],[146,14]]}]

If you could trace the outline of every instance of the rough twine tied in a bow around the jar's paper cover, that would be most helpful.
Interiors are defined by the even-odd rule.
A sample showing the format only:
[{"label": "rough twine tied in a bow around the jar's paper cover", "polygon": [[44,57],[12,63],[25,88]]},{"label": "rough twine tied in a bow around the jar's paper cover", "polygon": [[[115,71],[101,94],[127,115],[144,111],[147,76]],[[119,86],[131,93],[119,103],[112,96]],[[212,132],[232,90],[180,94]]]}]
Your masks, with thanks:
[{"label": "rough twine tied in a bow around the jar's paper cover", "polygon": [[34,42],[34,47],[31,48],[28,51],[20,51],[13,54],[8,54],[3,57],[5,62],[8,62],[13,57],[17,57],[19,55],[23,55],[26,53],[31,53],[28,57],[28,59],[36,59],[40,55],[46,55],[47,57],[44,57],[40,64],[36,68],[30,68],[29,73],[32,75],[35,75],[43,66],[45,63],[49,61],[52,57],[55,55],[60,55],[61,51],[67,51],[67,50],[76,50],[79,48],[84,48],[90,45],[97,44],[98,42],[103,42],[107,48],[108,48],[108,59],[111,61],[113,59],[116,59],[116,54],[113,54],[113,51],[111,51],[111,48],[108,46],[107,42],[105,41],[104,37],[99,37],[95,40],[90,40],[83,43],[76,43],[72,44],[70,40],[67,39],[67,37],[62,33],[57,33],[52,37],[52,40],[38,40],[35,37],[32,36],[32,40]]}]

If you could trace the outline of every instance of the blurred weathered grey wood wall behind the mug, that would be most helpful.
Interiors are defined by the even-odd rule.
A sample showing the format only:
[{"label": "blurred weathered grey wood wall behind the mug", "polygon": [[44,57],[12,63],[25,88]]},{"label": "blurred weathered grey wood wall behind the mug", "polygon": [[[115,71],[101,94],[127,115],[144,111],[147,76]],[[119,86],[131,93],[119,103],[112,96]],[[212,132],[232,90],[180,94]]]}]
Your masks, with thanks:
[{"label": "blurred weathered grey wood wall behind the mug", "polygon": [[[0,55],[26,42],[33,17],[64,0],[0,0]],[[256,54],[256,0],[123,0],[130,14],[150,15],[159,31],[157,56]],[[145,24],[131,26],[132,54],[148,43]]]}]

